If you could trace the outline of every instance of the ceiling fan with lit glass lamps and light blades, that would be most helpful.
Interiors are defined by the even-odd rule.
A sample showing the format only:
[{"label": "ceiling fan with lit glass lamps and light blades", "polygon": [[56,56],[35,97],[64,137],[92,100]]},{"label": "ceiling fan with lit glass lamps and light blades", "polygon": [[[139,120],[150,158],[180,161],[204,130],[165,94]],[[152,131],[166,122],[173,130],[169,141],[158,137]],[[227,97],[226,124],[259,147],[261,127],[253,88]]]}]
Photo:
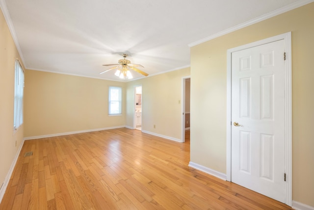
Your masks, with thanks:
[{"label": "ceiling fan with lit glass lamps and light blades", "polygon": [[133,77],[132,77],[132,74],[131,74],[131,72],[129,70],[129,69],[131,69],[131,70],[136,71],[136,72],[138,72],[138,73],[140,73],[140,74],[142,74],[144,76],[148,76],[148,74],[146,72],[141,71],[138,68],[136,68],[138,66],[144,68],[144,66],[142,66],[140,64],[132,64],[130,60],[126,60],[126,58],[128,56],[127,54],[123,54],[122,56],[123,56],[123,59],[118,60],[118,64],[104,64],[104,66],[111,66],[111,65],[115,65],[115,66],[112,67],[112,68],[109,68],[109,69],[107,69],[107,70],[105,70],[105,71],[103,71],[103,72],[101,72],[99,74],[103,74],[103,73],[105,73],[107,71],[110,71],[110,70],[113,70],[113,69],[117,69],[117,71],[116,71],[116,73],[114,75],[116,75],[116,76],[118,76],[119,78],[122,78],[122,79],[132,79]]}]

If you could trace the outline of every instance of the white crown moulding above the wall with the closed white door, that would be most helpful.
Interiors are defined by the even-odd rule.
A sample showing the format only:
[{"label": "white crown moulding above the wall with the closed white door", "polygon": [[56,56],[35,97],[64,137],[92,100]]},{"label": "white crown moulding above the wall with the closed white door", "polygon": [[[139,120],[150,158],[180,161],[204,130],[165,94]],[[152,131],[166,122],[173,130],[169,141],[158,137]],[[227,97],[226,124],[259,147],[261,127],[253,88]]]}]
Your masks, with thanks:
[{"label": "white crown moulding above the wall with the closed white door", "polygon": [[246,22],[241,23],[239,25],[236,25],[234,27],[231,27],[231,28],[229,28],[227,30],[222,30],[222,31],[220,31],[218,33],[215,33],[213,35],[210,35],[210,36],[205,37],[203,39],[200,39],[198,41],[192,42],[192,43],[188,44],[188,46],[189,47],[194,47],[196,45],[199,45],[199,44],[202,44],[204,42],[207,42],[207,41],[209,41],[211,39],[217,38],[217,37],[222,36],[222,35],[226,35],[228,33],[231,33],[233,31],[235,31],[235,30],[243,29],[245,27],[248,27],[248,26],[251,26],[253,24],[259,23],[261,21],[264,21],[264,20],[266,20],[268,18],[272,18],[272,17],[274,17],[276,15],[280,15],[280,14],[288,12],[288,11],[290,11],[292,9],[296,9],[296,8],[298,8],[300,6],[304,6],[304,5],[306,5],[308,3],[311,3],[311,2],[314,2],[314,0],[299,0],[299,1],[296,1],[294,3],[291,3],[291,4],[287,5],[287,6],[281,7],[279,9],[276,9],[276,10],[271,11],[271,12],[268,12],[268,13],[260,16],[260,17],[254,18],[252,20],[249,20],[249,21],[246,21]]}]

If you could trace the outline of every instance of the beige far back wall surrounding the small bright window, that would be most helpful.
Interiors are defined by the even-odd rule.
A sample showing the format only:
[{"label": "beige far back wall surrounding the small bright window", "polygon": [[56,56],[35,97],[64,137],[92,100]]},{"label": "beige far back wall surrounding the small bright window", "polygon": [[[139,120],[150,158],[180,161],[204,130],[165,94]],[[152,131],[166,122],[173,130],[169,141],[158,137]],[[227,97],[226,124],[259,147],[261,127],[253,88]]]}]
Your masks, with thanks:
[{"label": "beige far back wall surrounding the small bright window", "polygon": [[108,116],[108,87],[125,83],[26,70],[25,137],[125,125],[122,116]]}]

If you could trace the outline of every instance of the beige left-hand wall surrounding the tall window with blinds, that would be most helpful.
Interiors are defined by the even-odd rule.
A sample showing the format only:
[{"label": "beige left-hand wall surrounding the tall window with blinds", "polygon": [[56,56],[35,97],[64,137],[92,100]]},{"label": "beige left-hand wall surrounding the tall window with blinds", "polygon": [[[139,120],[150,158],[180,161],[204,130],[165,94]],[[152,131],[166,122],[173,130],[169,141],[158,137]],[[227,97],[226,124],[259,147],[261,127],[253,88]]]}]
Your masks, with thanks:
[{"label": "beige left-hand wall surrounding the tall window with blinds", "polygon": [[14,60],[19,57],[0,10],[0,185],[23,142],[23,125],[13,132]]}]

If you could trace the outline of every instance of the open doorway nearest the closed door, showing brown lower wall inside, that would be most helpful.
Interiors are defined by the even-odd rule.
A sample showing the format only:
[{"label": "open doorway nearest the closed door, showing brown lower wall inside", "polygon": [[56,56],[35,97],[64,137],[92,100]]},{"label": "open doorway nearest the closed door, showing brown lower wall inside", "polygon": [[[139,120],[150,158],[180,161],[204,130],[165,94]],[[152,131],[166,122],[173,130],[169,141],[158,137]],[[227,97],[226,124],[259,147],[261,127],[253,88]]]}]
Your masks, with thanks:
[{"label": "open doorway nearest the closed door, showing brown lower wall inside", "polygon": [[182,142],[190,141],[190,76],[182,78]]}]

